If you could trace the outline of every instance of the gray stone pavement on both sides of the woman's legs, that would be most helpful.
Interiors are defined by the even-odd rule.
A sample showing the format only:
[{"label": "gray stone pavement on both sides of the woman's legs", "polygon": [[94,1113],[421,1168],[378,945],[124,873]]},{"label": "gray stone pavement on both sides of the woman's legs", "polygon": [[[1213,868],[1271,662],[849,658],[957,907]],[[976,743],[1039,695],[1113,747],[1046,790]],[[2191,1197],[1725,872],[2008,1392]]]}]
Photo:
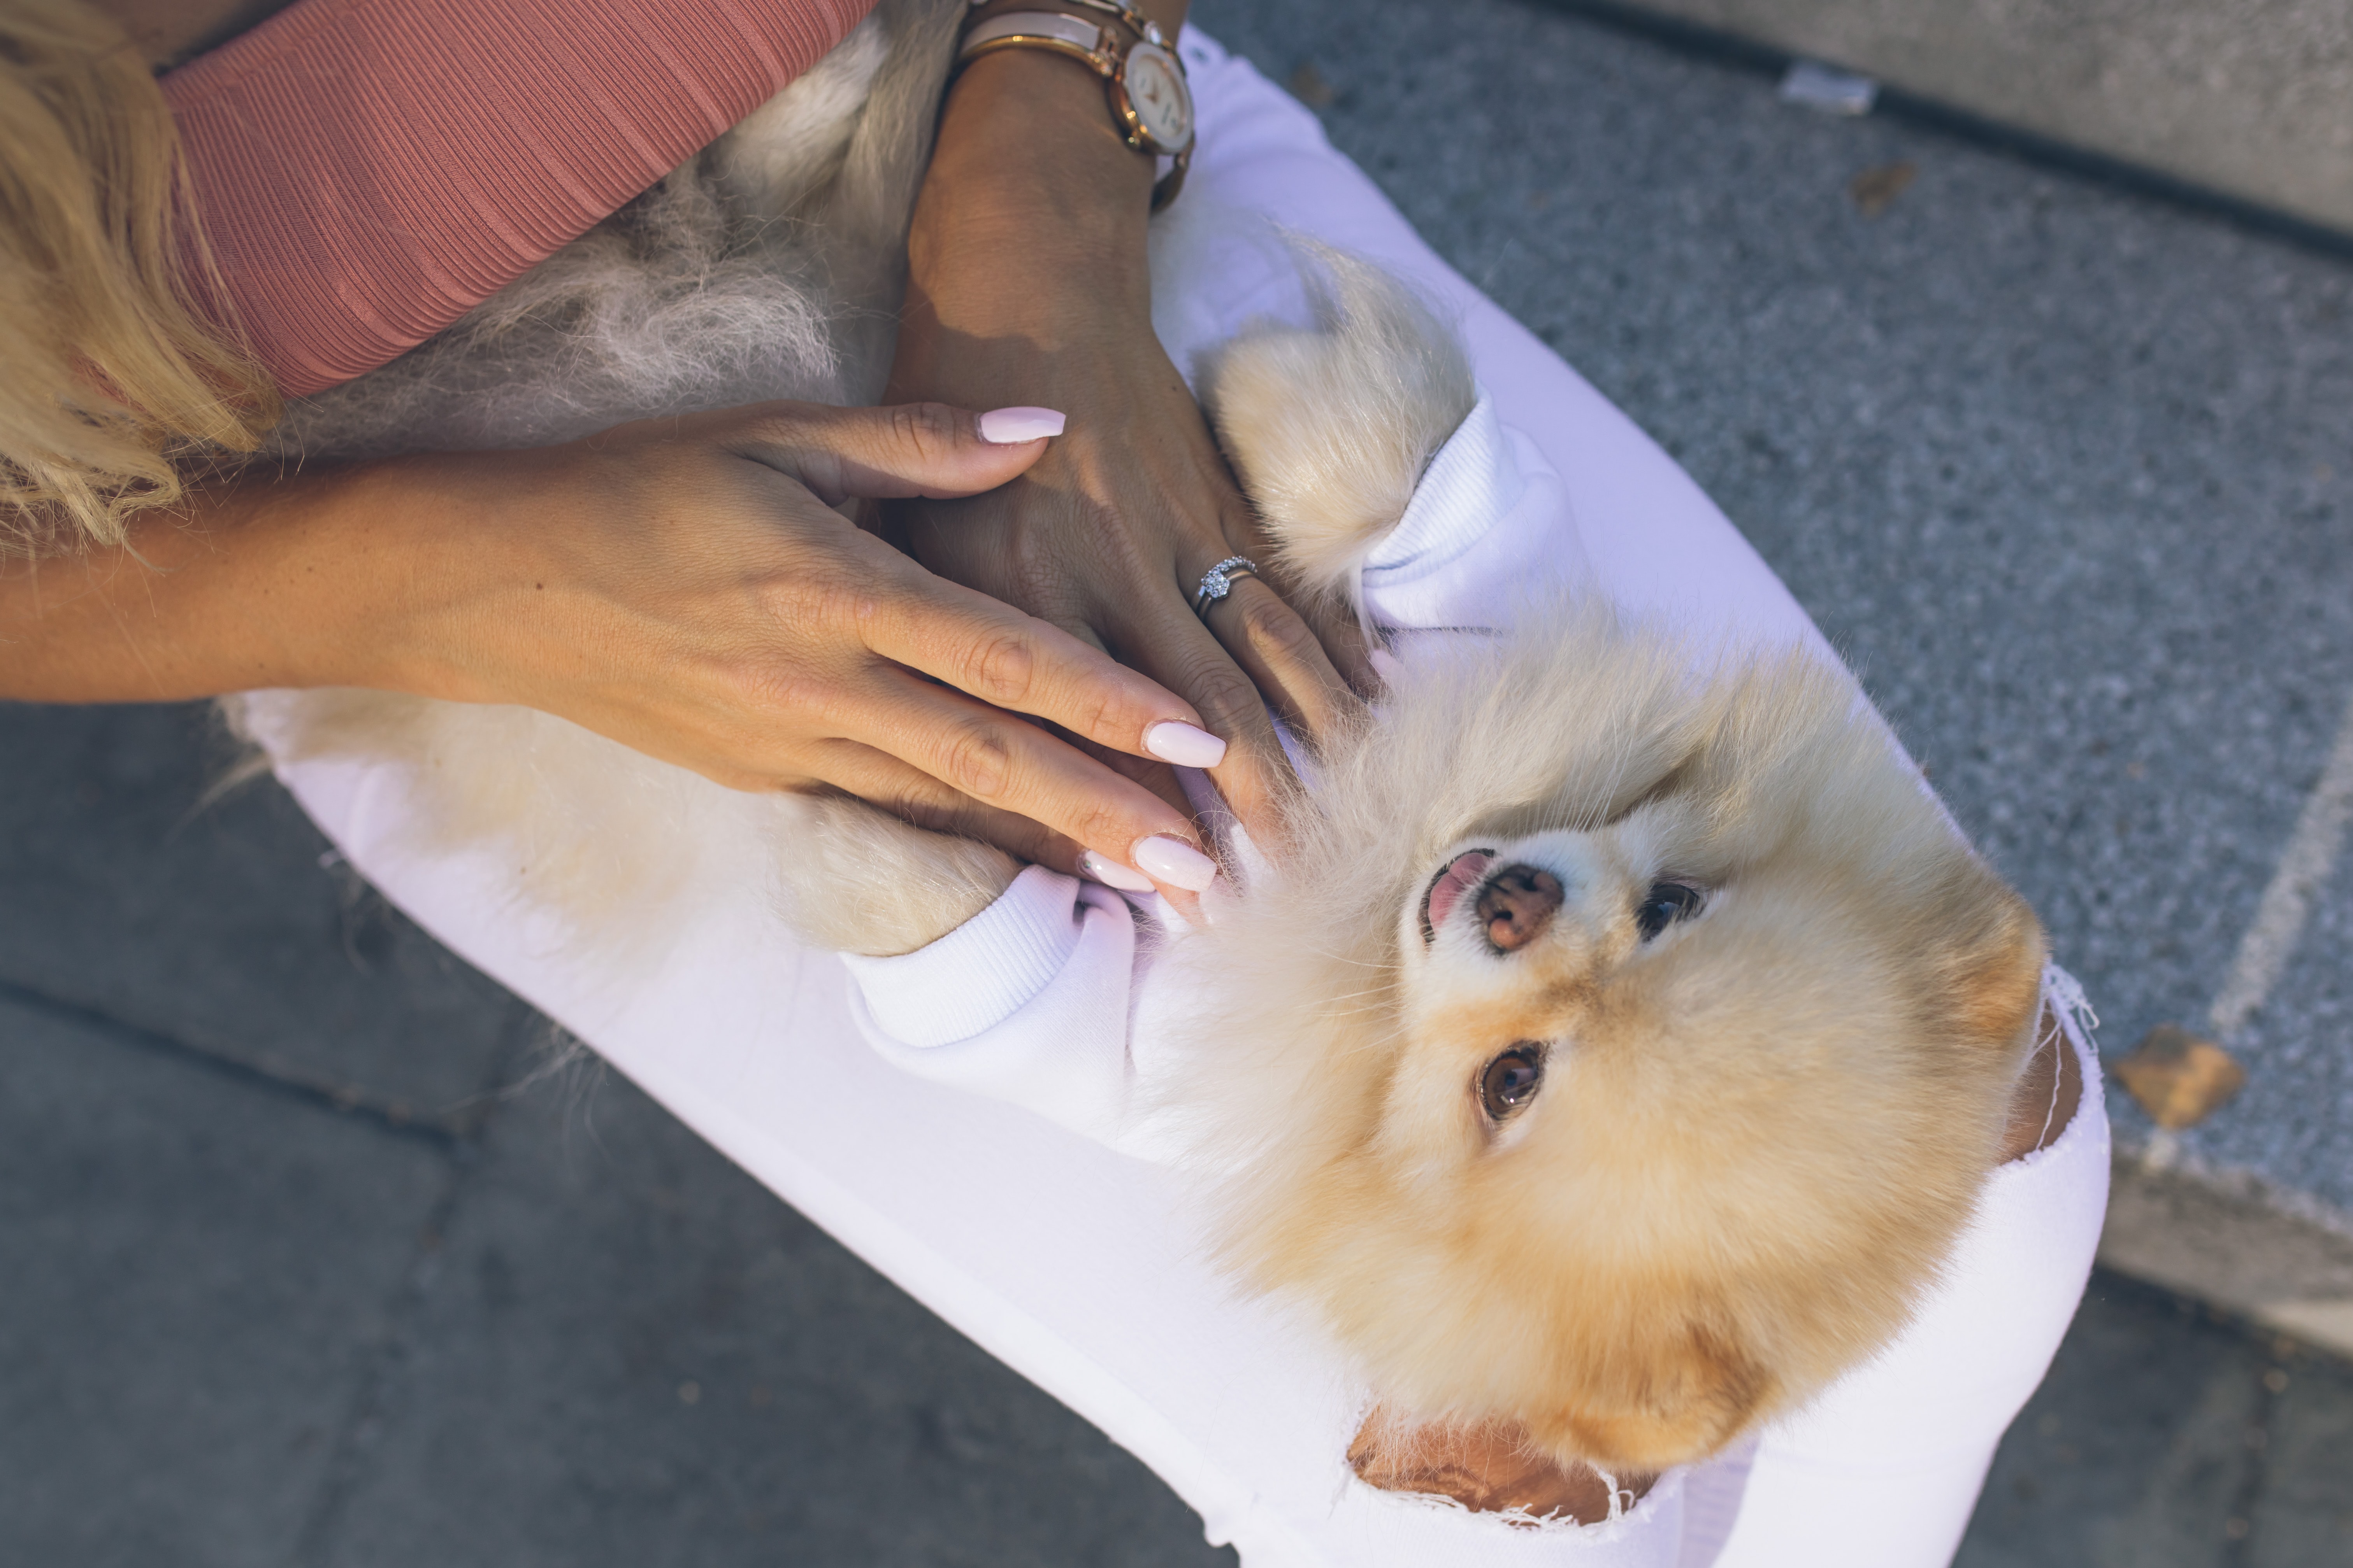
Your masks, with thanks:
[{"label": "gray stone pavement on both sides of the woman's legs", "polygon": [[[2111,1041],[2205,1016],[2353,693],[2353,270],[1508,0],[1200,16],[1748,529]],[[0,708],[0,1561],[1231,1561],[631,1086],[513,1088],[546,1027],[216,755]],[[2353,1206],[2346,898],[2184,1164]],[[2346,1561],[2348,1439],[2101,1276],[1962,1561]]]}]

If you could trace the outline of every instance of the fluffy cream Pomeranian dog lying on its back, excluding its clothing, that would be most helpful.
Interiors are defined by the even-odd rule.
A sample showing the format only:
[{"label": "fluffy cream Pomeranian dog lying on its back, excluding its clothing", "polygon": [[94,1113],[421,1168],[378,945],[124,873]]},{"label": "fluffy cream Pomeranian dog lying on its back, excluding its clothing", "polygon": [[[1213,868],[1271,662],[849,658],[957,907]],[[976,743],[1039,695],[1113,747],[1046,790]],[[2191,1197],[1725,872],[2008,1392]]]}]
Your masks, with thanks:
[{"label": "fluffy cream Pomeranian dog lying on its back, excluding its clothing", "polygon": [[[955,9],[889,0],[631,212],[296,409],[289,442],[871,397]],[[1205,386],[1289,581],[1346,595],[1473,386],[1402,287],[1313,268],[1322,320],[1231,343]],[[245,717],[280,757],[409,769],[426,846],[511,849],[584,943],[652,940],[696,867],[765,865],[809,940],[906,952],[1019,870],[527,710],[308,691]],[[1202,983],[1155,1093],[1242,1279],[1388,1408],[1626,1472],[1718,1450],[1904,1326],[1998,1161],[2045,945],[1845,670],[1532,592],[1494,635],[1424,637],[1311,773],[1280,858],[1233,865],[1169,943]]]}]

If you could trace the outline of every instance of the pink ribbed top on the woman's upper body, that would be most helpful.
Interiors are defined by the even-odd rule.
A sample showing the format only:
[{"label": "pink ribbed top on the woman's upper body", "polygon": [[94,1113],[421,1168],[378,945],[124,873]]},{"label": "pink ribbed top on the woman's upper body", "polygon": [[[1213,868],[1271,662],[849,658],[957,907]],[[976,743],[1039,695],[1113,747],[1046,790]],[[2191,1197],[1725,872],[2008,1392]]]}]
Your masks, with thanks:
[{"label": "pink ribbed top on the woman's upper body", "polygon": [[162,80],[289,395],[426,341],[807,71],[873,0],[299,0]]}]

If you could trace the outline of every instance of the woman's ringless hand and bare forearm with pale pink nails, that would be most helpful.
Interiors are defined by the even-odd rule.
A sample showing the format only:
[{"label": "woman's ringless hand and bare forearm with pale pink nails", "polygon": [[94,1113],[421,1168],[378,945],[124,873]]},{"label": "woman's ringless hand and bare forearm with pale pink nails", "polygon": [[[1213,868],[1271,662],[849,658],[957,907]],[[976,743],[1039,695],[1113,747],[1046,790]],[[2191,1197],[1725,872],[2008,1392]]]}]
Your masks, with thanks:
[{"label": "woman's ringless hand and bare forearm with pale pink nails", "polygon": [[42,599],[0,583],[0,637],[31,642],[7,693],[520,703],[741,790],[833,785],[1059,870],[1200,889],[1181,811],[1016,717],[1169,757],[1214,750],[1200,715],[833,510],[967,496],[1045,449],[939,404],[786,402],[259,482],[205,534],[144,534],[160,576],[85,559],[52,562]]}]

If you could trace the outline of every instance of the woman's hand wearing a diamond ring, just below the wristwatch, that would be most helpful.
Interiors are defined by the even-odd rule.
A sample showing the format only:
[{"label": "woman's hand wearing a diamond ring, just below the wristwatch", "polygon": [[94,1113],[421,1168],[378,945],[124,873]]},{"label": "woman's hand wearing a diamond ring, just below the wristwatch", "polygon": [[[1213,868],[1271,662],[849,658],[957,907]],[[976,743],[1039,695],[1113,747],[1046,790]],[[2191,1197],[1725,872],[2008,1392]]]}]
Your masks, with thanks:
[{"label": "woman's hand wearing a diamond ring, just below the wristwatch", "polygon": [[889,395],[1002,386],[1071,425],[1012,484],[894,508],[894,529],[934,571],[1191,701],[1233,743],[1212,776],[1264,839],[1287,764],[1261,693],[1315,736],[1355,701],[1351,682],[1369,689],[1369,668],[1353,625],[1311,628],[1257,578],[1238,578],[1207,623],[1193,614],[1202,571],[1268,555],[1153,336],[1151,176],[1111,129],[1101,82],[1073,61],[1009,49],[958,80],[915,207]]}]

